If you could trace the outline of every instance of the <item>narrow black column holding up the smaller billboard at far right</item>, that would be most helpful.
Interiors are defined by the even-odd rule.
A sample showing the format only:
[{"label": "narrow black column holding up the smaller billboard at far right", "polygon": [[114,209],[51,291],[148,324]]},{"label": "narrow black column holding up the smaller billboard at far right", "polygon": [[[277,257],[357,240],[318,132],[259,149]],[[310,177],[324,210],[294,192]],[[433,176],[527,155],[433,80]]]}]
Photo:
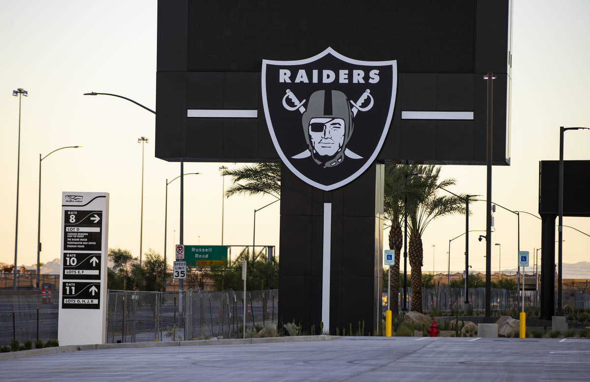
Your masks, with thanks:
[{"label": "narrow black column holding up the smaller billboard at far right", "polygon": [[541,318],[551,320],[555,315],[555,218],[541,214]]}]

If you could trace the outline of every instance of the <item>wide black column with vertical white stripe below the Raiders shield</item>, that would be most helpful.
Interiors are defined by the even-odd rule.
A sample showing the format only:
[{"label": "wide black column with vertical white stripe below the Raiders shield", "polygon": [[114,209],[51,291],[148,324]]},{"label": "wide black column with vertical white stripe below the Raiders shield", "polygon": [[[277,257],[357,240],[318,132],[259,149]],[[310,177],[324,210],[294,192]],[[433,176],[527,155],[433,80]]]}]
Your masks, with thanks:
[{"label": "wide black column with vertical white stripe below the Raiders shield", "polygon": [[[322,320],[323,205],[332,203],[330,332],[365,334],[381,320],[383,165],[373,164],[344,187],[324,192],[281,167],[278,288],[280,325],[295,321],[319,334]],[[324,324],[324,330],[327,325]]]}]

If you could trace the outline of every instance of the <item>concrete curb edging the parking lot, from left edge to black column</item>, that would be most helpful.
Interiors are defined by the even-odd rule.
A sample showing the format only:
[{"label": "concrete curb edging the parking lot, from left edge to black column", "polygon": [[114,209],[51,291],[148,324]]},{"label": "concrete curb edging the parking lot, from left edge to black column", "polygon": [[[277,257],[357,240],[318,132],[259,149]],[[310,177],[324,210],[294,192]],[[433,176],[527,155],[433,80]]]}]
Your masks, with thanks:
[{"label": "concrete curb edging the parking lot, from left edge to black column", "polygon": [[171,347],[171,346],[214,346],[214,345],[251,345],[251,344],[276,344],[296,343],[309,341],[327,341],[342,338],[336,335],[301,335],[296,337],[268,337],[268,338],[232,338],[228,340],[191,340],[191,341],[170,341],[150,343],[126,343],[126,344],[94,344],[94,345],[67,345],[43,349],[12,351],[11,353],[0,353],[0,361],[15,360],[17,358],[35,357],[56,353],[69,353],[78,350],[101,350],[101,349],[128,349],[128,348],[149,348],[149,347]]}]

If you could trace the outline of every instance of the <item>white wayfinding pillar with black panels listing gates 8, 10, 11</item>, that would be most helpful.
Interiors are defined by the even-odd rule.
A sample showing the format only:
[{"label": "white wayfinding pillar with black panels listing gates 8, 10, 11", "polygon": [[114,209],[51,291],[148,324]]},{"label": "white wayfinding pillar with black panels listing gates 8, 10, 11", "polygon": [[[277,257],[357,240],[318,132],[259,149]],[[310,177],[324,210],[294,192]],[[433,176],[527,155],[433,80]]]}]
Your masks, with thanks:
[{"label": "white wayfinding pillar with black panels listing gates 8, 10, 11", "polygon": [[108,226],[108,193],[62,193],[60,345],[105,342]]}]

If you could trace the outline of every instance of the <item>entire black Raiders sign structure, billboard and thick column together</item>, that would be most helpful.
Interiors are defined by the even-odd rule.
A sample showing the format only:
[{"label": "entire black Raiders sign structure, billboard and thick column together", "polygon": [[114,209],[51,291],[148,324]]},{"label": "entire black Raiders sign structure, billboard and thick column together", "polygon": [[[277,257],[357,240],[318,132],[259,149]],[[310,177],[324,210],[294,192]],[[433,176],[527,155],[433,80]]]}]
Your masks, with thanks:
[{"label": "entire black Raiders sign structure, billboard and thick column together", "polygon": [[[301,0],[288,11],[281,2],[159,1],[155,153],[160,159],[280,161],[271,133],[278,126],[269,126],[264,113],[269,98],[262,85],[263,60],[304,60],[331,48],[350,60],[396,61],[392,117],[381,148],[363,172],[327,189],[281,167],[281,320],[295,320],[309,331],[329,310],[324,329],[332,333],[358,321],[365,321],[368,331],[377,328],[383,164],[485,164],[487,114],[493,116],[493,163],[510,163],[511,9],[509,0]],[[312,83],[314,69],[333,70],[320,66],[306,71]],[[487,73],[495,77],[491,109]],[[272,96],[278,107],[287,89],[299,103],[313,94],[300,93],[303,83],[295,83],[297,74],[291,74],[297,87],[284,88],[281,99]],[[335,94],[342,91],[336,84],[317,90]],[[361,95],[342,93],[355,103]],[[374,101],[373,107],[382,107],[382,97]],[[289,96],[286,103],[308,107]],[[299,107],[278,110],[293,116],[301,113]],[[312,132],[319,132],[316,127]],[[360,131],[356,127],[353,137]],[[298,129],[298,139],[306,143],[303,126]],[[355,153],[352,143],[348,149]],[[287,162],[296,155],[290,153]],[[328,301],[322,296],[326,287]]]}]

